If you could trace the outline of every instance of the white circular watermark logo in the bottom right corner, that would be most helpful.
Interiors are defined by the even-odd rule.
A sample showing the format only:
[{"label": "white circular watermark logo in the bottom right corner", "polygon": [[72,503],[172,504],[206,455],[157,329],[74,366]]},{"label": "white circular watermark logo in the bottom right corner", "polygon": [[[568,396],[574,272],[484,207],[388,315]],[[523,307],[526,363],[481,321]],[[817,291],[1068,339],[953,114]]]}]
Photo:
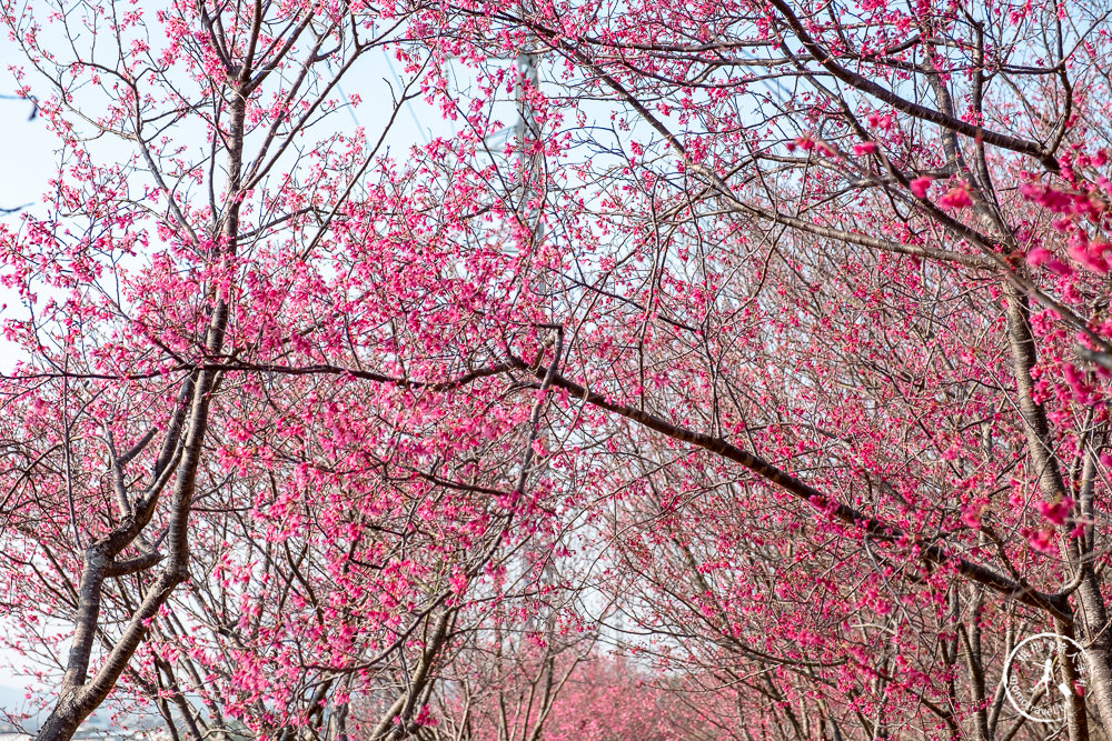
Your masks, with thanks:
[{"label": "white circular watermark logo in the bottom right corner", "polygon": [[[1060,651],[1060,641],[1065,645]],[[1072,665],[1066,671],[1065,661]],[[1069,677],[1075,678],[1072,682]],[[1004,692],[1020,714],[1037,723],[1064,721],[1071,695],[1084,697],[1085,651],[1073,639],[1037,633],[1023,639],[1004,663]]]}]

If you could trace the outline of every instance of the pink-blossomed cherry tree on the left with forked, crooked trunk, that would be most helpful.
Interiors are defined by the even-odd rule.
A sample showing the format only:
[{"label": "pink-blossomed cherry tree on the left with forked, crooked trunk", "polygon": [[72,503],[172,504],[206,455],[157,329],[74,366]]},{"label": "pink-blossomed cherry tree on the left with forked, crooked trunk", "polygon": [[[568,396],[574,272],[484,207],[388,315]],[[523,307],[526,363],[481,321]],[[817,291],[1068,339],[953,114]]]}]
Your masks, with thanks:
[{"label": "pink-blossomed cherry tree on the left with forked, crooked trunk", "polygon": [[119,685],[175,737],[344,735],[355,693],[405,730],[459,594],[533,527],[540,402],[484,367],[532,327],[497,316],[515,258],[469,243],[451,146],[384,148],[431,44],[380,131],[320,126],[417,10],[6,7],[62,142],[48,211],[3,234],[6,604],[58,678],[39,738]]}]

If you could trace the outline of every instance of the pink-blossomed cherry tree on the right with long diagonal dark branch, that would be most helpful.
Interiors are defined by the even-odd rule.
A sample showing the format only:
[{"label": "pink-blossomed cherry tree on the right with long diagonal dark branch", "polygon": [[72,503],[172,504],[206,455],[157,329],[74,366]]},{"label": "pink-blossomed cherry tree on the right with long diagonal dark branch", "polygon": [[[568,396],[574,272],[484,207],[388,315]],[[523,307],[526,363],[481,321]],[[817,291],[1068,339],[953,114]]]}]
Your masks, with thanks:
[{"label": "pink-blossomed cherry tree on the right with long diagonal dark branch", "polygon": [[[1110,717],[1105,12],[502,17],[577,101],[615,103],[610,149],[572,133],[606,238],[568,240],[592,258],[559,268],[576,341],[554,385],[606,440],[568,465],[631,493],[603,582],[649,577],[633,617],[675,625],[665,661],[702,625],[699,668],[795,663],[827,708],[868,705],[870,738],[917,728],[909,707],[992,738],[1011,711],[982,637],[1003,615],[993,672],[1029,621],[1078,637]],[[613,455],[638,465],[615,480]]]}]

